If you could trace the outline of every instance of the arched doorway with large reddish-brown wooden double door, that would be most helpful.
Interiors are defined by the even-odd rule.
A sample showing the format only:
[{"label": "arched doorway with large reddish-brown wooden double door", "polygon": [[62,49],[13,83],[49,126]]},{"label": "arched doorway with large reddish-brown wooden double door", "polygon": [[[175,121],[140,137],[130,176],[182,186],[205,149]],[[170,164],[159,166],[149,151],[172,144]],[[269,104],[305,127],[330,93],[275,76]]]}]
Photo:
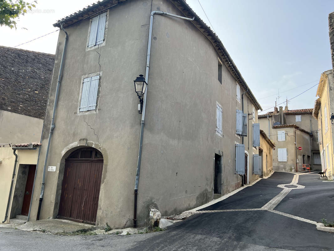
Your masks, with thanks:
[{"label": "arched doorway with large reddish-brown wooden double door", "polygon": [[80,148],[65,159],[58,218],[95,224],[102,170],[103,156],[95,148]]}]

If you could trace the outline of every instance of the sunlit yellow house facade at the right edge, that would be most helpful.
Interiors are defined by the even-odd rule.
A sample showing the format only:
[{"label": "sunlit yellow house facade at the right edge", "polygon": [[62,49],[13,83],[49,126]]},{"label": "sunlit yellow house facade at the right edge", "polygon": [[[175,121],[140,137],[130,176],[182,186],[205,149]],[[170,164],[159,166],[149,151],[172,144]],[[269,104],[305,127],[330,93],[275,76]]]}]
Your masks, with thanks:
[{"label": "sunlit yellow house facade at the right edge", "polygon": [[315,102],[314,117],[318,120],[319,147],[321,153],[322,170],[327,168],[328,179],[333,179],[333,126],[330,120],[334,112],[334,86],[333,72],[326,71],[321,74]]}]

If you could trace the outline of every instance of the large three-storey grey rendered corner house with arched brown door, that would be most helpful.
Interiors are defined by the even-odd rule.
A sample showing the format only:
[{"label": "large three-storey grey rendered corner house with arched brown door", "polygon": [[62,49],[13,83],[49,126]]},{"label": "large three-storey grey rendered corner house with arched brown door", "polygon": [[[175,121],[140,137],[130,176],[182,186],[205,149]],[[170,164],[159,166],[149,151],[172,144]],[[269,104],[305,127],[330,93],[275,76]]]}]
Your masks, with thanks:
[{"label": "large three-storey grey rendered corner house with arched brown door", "polygon": [[[177,214],[259,177],[262,108],[217,35],[184,0],[104,0],[54,26],[64,31],[36,176],[43,185],[35,188],[31,217],[144,225],[149,208]],[[133,81],[145,69],[138,114]],[[45,171],[43,182],[45,161],[44,170],[56,170]]]}]

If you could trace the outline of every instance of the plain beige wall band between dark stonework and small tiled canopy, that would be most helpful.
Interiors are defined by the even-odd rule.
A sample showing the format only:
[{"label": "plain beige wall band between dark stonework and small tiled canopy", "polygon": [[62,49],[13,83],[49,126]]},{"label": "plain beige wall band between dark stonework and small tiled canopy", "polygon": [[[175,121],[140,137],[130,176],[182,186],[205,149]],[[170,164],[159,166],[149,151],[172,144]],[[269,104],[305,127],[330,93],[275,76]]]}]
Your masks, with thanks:
[{"label": "plain beige wall band between dark stonework and small tiled canopy", "polygon": [[43,119],[0,110],[0,144],[38,142]]}]

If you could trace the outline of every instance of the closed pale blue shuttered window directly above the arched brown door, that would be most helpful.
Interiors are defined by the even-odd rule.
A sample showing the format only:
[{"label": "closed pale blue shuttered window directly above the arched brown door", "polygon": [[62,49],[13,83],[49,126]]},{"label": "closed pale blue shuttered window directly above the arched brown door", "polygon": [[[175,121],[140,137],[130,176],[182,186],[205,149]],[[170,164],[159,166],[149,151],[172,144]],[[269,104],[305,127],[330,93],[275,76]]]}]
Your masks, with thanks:
[{"label": "closed pale blue shuttered window directly above the arched brown door", "polygon": [[95,110],[100,76],[83,79],[79,111]]}]

